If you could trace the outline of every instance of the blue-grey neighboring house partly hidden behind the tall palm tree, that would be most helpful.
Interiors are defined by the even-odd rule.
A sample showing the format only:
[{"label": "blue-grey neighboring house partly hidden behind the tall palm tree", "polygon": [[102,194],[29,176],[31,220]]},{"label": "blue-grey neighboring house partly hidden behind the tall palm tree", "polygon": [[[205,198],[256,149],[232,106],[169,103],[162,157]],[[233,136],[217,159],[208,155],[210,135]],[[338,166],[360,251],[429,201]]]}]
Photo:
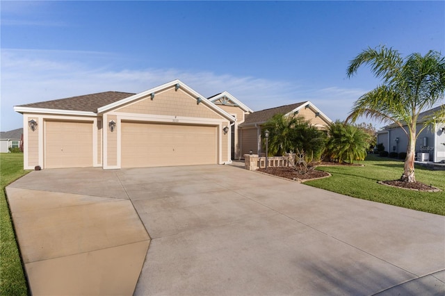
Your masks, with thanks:
[{"label": "blue-grey neighboring house partly hidden behind the tall palm tree", "polygon": [[[438,106],[421,113],[417,131],[423,127],[426,116],[444,107],[445,105]],[[407,151],[408,139],[400,126],[390,124],[377,132],[377,143],[383,144],[385,151],[401,153]],[[416,161],[445,162],[445,122],[430,124],[419,134],[416,141]]]}]

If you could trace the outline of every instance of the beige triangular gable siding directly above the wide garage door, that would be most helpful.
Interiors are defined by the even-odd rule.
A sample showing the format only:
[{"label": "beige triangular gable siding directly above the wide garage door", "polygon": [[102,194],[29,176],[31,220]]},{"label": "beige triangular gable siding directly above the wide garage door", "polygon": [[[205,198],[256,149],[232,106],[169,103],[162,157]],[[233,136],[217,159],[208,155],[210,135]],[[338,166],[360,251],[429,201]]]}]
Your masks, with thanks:
[{"label": "beige triangular gable siding directly above the wide garage door", "polygon": [[[206,99],[206,98],[202,98]],[[171,115],[181,117],[202,117],[221,119],[222,116],[205,106],[197,104],[196,98],[184,90],[175,90],[174,87],[155,94],[152,100],[147,96],[136,103],[129,104],[116,110],[123,113],[140,113],[155,115]]]}]

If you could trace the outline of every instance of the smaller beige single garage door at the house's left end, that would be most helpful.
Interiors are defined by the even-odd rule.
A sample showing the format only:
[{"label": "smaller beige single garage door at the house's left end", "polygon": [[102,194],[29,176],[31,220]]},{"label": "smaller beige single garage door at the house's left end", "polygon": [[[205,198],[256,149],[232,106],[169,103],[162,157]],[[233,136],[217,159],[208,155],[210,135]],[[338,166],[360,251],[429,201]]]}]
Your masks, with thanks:
[{"label": "smaller beige single garage door at the house's left end", "polygon": [[45,167],[92,167],[92,122],[47,121]]}]

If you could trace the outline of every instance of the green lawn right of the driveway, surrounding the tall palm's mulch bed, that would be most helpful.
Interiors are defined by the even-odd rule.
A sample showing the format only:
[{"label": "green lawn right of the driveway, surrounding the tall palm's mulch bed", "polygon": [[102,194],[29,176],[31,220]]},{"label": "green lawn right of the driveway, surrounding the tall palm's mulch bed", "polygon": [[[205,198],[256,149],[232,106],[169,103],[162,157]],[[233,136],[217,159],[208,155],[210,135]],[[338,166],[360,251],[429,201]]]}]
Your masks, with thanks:
[{"label": "green lawn right of the driveway, surrounding the tall palm's mulch bed", "polygon": [[440,192],[419,192],[377,183],[399,179],[403,173],[403,161],[369,155],[365,161],[359,163],[364,167],[318,167],[317,170],[330,172],[332,176],[307,181],[305,184],[350,197],[445,215],[445,171],[431,171],[416,166],[416,181],[442,189]]}]

